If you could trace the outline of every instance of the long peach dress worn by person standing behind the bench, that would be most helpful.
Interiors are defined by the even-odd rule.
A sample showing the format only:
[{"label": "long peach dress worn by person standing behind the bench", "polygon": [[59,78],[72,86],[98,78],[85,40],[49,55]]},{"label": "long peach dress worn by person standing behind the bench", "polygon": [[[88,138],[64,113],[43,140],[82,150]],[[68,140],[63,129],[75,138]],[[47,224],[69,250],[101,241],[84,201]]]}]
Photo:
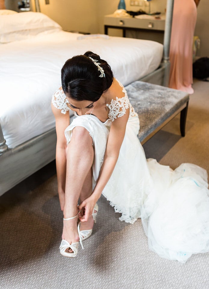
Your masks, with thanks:
[{"label": "long peach dress worn by person standing behind the bench", "polygon": [[192,43],[197,20],[194,0],[174,0],[169,87],[192,94]]}]

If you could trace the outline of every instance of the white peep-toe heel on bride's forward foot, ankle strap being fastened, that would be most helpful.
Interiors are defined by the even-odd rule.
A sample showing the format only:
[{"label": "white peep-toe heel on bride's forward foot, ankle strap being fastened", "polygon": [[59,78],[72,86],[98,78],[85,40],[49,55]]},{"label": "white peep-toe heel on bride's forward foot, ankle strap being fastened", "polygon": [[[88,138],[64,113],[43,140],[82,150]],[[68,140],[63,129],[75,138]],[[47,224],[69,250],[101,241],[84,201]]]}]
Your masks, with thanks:
[{"label": "white peep-toe heel on bride's forward foot, ankle strap being fastened", "polygon": [[[80,212],[78,212],[79,214]],[[72,220],[75,219],[78,214],[74,217],[71,218],[63,218],[63,220],[67,221],[67,220]],[[78,223],[78,235],[79,235],[79,239],[80,239],[80,243],[81,243],[81,247],[82,249],[83,244],[82,244],[82,238],[81,238],[81,232],[80,232],[80,223]],[[62,239],[61,244],[60,244],[60,254],[62,254],[65,257],[75,257],[78,253],[78,244],[79,242],[74,242],[74,243],[69,243],[68,241]],[[66,252],[66,249],[70,248],[72,250],[72,252]]]}]

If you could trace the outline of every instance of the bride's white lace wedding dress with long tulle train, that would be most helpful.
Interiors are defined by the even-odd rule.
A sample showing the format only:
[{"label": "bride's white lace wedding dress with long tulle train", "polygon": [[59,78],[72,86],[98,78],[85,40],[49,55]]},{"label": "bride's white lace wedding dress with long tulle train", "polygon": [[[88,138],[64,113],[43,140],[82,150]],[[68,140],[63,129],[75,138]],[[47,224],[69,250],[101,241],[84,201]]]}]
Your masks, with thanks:
[{"label": "bride's white lace wedding dress with long tulle train", "polygon": [[[122,86],[122,85],[121,85]],[[123,87],[123,86],[122,86]],[[83,126],[93,139],[93,182],[97,181],[112,121],[130,107],[130,116],[115,169],[103,190],[120,220],[134,223],[141,218],[150,250],[159,256],[185,263],[196,253],[209,251],[209,190],[207,172],[183,163],[174,171],[154,159],[146,160],[137,134],[138,115],[123,87],[124,97],[112,100],[109,119],[102,123],[94,115],[78,116],[66,128],[67,143],[72,129]],[[66,96],[59,89],[52,103],[66,113]]]}]

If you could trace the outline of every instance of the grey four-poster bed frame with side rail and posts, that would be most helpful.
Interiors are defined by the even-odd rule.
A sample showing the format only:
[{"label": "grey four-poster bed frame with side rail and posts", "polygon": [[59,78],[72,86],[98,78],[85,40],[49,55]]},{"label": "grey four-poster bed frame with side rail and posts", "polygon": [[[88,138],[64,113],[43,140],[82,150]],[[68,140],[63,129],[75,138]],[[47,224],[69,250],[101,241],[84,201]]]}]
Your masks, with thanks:
[{"label": "grey four-poster bed frame with side rail and posts", "polygon": [[[36,2],[36,11],[40,8]],[[167,0],[164,33],[164,55],[160,67],[139,79],[144,82],[168,86],[170,38],[174,0]],[[8,148],[0,125],[0,196],[34,172],[55,159],[56,131],[51,129],[15,148]]]}]

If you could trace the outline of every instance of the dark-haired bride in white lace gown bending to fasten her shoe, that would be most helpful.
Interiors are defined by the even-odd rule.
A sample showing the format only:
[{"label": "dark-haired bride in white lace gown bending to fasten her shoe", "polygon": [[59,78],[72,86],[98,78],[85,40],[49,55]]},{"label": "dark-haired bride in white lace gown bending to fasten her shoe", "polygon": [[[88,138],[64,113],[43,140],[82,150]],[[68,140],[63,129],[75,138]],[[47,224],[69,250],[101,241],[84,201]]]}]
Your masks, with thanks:
[{"label": "dark-haired bride in white lace gown bending to fasten her shoe", "polygon": [[[207,172],[184,163],[174,171],[146,160],[139,118],[108,63],[91,51],[67,60],[54,92],[56,167],[63,210],[60,253],[75,257],[90,237],[103,194],[120,220],[141,218],[150,250],[185,263],[209,251]],[[70,123],[69,110],[75,117]],[[79,202],[79,205],[78,205]]]}]

